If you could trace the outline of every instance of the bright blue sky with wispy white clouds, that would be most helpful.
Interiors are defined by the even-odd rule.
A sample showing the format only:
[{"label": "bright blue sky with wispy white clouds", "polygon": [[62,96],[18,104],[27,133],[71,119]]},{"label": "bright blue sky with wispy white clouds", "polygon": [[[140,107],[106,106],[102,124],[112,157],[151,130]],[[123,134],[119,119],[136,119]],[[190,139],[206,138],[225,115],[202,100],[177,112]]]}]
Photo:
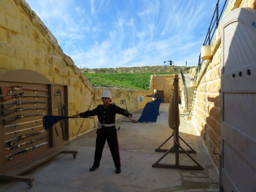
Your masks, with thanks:
[{"label": "bright blue sky with wispy white clouds", "polygon": [[26,1],[79,68],[195,66],[217,2]]}]

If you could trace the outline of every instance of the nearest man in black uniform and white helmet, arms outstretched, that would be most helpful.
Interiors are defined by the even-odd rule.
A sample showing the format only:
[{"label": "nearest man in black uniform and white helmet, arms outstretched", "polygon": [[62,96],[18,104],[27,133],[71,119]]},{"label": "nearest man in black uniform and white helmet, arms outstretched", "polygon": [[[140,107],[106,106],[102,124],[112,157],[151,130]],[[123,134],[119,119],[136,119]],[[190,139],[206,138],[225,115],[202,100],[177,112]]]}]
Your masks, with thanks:
[{"label": "nearest man in black uniform and white helmet, arms outstretched", "polygon": [[107,141],[113,161],[115,166],[115,173],[118,174],[121,172],[120,166],[120,155],[119,155],[119,146],[118,139],[115,129],[115,114],[122,114],[127,116],[131,122],[136,122],[136,120],[132,119],[131,113],[127,110],[116,106],[111,102],[111,94],[108,90],[105,90],[102,93],[102,102],[103,104],[99,104],[96,108],[92,110],[87,110],[85,112],[80,112],[78,114],[72,115],[72,118],[80,117],[88,117],[97,115],[98,117],[98,128],[97,128],[97,137],[96,137],[96,146],[94,153],[94,162],[92,167],[89,169],[90,171],[95,170],[99,166],[99,161],[101,159],[102,151],[104,148],[105,141]]}]

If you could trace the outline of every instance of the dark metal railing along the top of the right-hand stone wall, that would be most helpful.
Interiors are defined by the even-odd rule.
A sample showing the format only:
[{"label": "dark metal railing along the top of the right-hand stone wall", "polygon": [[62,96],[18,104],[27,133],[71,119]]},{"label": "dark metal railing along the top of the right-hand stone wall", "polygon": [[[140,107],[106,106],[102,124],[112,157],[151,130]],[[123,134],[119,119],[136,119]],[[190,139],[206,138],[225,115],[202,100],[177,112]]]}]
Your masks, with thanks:
[{"label": "dark metal railing along the top of the right-hand stone wall", "polygon": [[[210,21],[210,25],[208,27],[208,30],[207,30],[207,33],[206,33],[206,36],[204,38],[204,41],[203,41],[203,44],[202,45],[205,45],[205,44],[210,44],[213,36],[214,36],[214,33],[218,27],[218,24],[219,24],[219,20],[221,19],[221,16],[222,16],[222,13],[223,13],[223,10],[224,10],[224,7],[226,5],[226,1],[224,2],[223,4],[223,7],[219,13],[219,0],[217,1],[216,3],[216,7],[215,7],[215,10],[213,12],[213,15],[212,15],[212,18],[211,18],[211,21]],[[201,53],[199,54],[199,59],[198,59],[198,65],[197,65],[197,69],[196,69],[196,72],[195,72],[195,75],[194,75],[194,80],[196,80],[197,78],[197,74],[200,72],[200,69],[201,69],[201,64],[202,64],[202,59],[201,59]]]}]

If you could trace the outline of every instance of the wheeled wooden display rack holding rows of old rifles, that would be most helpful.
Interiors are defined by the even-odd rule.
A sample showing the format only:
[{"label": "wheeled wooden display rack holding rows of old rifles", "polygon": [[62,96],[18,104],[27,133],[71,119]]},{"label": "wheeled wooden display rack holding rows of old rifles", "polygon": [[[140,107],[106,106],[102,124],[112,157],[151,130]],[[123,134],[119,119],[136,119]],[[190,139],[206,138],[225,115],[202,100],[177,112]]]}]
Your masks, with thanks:
[{"label": "wheeled wooden display rack holding rows of old rifles", "polygon": [[10,70],[0,74],[0,180],[23,181],[32,187],[33,177],[25,172],[65,150],[68,120],[49,130],[44,115],[67,116],[67,86],[54,84],[32,70]]}]

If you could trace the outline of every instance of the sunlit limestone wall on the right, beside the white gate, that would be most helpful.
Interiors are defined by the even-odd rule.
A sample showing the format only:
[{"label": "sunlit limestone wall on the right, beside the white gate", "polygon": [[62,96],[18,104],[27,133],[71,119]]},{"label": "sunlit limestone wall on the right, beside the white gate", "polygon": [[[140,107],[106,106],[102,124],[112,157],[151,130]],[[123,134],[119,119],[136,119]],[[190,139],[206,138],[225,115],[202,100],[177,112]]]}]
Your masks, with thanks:
[{"label": "sunlit limestone wall on the right, beside the white gate", "polygon": [[[223,16],[237,7],[256,7],[256,0],[229,0]],[[216,164],[218,156],[214,152],[220,152],[220,25],[211,42],[212,59],[204,60],[198,74],[198,86],[192,110],[192,121],[199,131],[205,145]]]}]

